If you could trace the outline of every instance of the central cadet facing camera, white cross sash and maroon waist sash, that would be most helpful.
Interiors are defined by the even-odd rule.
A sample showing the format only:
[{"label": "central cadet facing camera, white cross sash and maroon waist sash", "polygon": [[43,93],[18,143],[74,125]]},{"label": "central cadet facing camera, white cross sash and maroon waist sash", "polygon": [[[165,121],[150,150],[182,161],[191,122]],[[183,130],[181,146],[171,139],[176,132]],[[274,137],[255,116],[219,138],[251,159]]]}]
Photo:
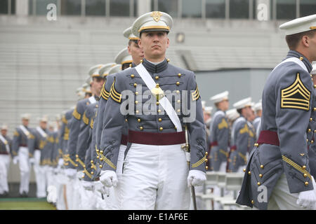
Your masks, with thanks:
[{"label": "central cadet facing camera, white cross sash and maroon waist sash", "polygon": [[[169,46],[167,33],[171,27],[172,18],[162,12],[146,13],[133,23],[133,34],[140,35],[138,44],[143,48],[145,58],[135,68],[117,73],[107,100],[111,113],[106,113],[104,118],[105,144],[100,148],[104,155],[100,181],[107,187],[115,187],[121,130],[126,122],[122,113],[128,105],[122,94],[124,90],[130,93],[131,104],[126,114],[129,144],[121,177],[121,209],[189,209],[188,186],[201,186],[206,179],[206,134],[199,90],[192,71],[172,66],[165,58]],[[140,74],[148,77],[148,73],[154,82],[150,87],[152,92],[140,78]],[[176,99],[171,99],[171,107],[165,105],[162,91],[178,96],[172,97]],[[176,109],[175,113],[169,111],[176,104],[180,105],[181,93],[192,110],[186,117],[185,109]],[[147,99],[150,100],[147,102]],[[169,115],[162,113],[162,106]],[[185,144],[185,125],[190,134],[190,172],[185,151],[181,148]]]}]

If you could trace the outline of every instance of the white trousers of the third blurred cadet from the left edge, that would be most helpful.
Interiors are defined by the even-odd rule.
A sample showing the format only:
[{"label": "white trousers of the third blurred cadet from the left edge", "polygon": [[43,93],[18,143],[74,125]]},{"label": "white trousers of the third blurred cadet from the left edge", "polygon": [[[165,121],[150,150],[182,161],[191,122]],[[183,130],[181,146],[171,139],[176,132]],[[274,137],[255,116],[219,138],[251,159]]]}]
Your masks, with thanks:
[{"label": "white trousers of the third blurred cadet from the left edge", "polygon": [[37,197],[46,197],[46,189],[45,189],[45,176],[44,171],[41,170],[43,167],[39,165],[41,162],[41,151],[34,151],[34,174],[35,181],[37,181]]}]

